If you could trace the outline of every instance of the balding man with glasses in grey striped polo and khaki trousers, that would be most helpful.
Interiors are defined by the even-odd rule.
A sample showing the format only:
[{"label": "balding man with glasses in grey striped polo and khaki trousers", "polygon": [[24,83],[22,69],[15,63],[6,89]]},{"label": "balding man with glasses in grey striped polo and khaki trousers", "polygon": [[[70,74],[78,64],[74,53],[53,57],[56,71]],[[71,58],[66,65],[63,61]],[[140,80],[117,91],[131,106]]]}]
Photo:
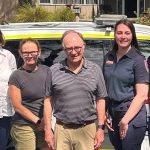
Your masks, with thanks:
[{"label": "balding man with glasses in grey striped polo and khaki trousers", "polygon": [[[45,139],[51,149],[94,150],[104,141],[107,92],[103,74],[98,65],[84,58],[85,42],[80,33],[65,32],[62,47],[67,58],[50,68],[46,83]],[[50,122],[53,107],[54,135]]]}]

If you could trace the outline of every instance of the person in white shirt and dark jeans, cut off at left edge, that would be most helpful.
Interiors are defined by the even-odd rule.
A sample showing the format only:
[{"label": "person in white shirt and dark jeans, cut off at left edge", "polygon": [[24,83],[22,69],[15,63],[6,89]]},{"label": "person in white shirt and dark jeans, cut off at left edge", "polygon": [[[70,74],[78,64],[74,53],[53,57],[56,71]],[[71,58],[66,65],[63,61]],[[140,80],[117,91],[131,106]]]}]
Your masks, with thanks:
[{"label": "person in white shirt and dark jeans, cut off at left edge", "polygon": [[8,96],[8,80],[16,70],[14,55],[2,47],[5,45],[4,36],[0,31],[0,150],[6,150],[10,135],[11,116],[14,114]]}]

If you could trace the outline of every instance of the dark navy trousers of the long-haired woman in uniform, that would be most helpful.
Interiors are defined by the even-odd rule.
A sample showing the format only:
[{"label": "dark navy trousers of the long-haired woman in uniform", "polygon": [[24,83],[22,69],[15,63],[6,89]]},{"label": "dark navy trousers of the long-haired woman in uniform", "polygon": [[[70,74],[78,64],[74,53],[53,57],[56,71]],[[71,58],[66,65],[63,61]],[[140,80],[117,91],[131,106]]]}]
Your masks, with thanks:
[{"label": "dark navy trousers of the long-haired woman in uniform", "polygon": [[115,150],[141,150],[141,144],[146,132],[146,108],[143,106],[139,113],[128,124],[126,137],[121,140],[119,135],[119,122],[127,112],[130,102],[120,104],[111,103],[109,114],[112,117],[114,131],[109,131],[109,138]]}]

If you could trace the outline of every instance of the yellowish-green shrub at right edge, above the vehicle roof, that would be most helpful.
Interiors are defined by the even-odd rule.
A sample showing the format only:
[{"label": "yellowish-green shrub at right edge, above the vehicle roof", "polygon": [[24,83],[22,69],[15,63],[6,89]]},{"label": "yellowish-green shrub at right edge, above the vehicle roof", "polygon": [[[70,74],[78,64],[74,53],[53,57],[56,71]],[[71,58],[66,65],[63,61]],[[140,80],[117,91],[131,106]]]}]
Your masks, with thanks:
[{"label": "yellowish-green shrub at right edge, above the vehicle roof", "polygon": [[144,25],[149,25],[150,26],[150,8],[147,9],[146,15],[141,16],[141,17],[138,18],[138,20],[136,21],[136,23],[144,24]]}]

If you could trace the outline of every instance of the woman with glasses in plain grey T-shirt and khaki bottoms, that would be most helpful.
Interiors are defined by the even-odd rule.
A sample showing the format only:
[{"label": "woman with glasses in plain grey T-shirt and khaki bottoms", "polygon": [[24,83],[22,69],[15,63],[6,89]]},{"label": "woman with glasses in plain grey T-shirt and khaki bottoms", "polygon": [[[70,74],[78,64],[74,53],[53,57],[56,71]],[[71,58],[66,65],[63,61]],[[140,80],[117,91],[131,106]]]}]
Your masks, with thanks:
[{"label": "woman with glasses in plain grey T-shirt and khaki bottoms", "polygon": [[16,150],[49,150],[44,140],[43,103],[50,69],[37,63],[39,42],[32,38],[20,42],[24,64],[9,79],[9,94],[15,109],[11,136]]}]

